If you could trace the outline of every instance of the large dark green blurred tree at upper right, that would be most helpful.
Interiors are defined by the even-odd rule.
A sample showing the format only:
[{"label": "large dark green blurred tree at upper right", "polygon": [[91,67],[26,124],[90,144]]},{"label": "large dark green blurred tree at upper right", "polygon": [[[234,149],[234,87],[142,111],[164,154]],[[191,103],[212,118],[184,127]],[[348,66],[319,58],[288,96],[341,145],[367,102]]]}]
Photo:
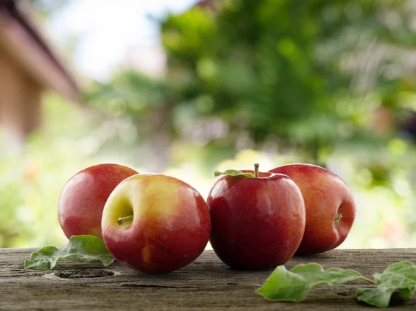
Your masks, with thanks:
[{"label": "large dark green blurred tree at upper right", "polygon": [[[220,116],[234,145],[242,132],[257,148],[277,137],[320,162],[320,150],[371,137],[363,118],[379,105],[396,109],[399,91],[413,86],[415,10],[406,1],[222,3],[170,15],[162,35],[182,105]],[[366,100],[371,93],[378,102]]]}]

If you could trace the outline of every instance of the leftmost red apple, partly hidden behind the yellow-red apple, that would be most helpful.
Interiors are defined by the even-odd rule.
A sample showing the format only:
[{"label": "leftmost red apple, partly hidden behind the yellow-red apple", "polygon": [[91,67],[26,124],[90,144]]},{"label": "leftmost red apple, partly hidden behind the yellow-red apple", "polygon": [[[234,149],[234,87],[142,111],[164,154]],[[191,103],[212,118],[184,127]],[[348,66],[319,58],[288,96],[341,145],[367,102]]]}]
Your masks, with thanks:
[{"label": "leftmost red apple, partly hidden behind the yellow-red apple", "polygon": [[58,202],[59,223],[65,236],[89,234],[101,238],[101,217],[108,196],[121,181],[136,174],[127,166],[103,163],[73,175]]}]

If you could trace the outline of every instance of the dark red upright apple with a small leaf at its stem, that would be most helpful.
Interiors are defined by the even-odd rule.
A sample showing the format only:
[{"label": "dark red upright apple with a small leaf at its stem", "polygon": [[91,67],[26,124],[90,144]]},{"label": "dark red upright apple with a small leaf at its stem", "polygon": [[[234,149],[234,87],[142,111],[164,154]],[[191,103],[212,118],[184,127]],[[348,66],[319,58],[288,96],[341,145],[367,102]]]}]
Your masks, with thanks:
[{"label": "dark red upright apple with a small leaf at its stem", "polygon": [[[252,170],[243,170],[251,172]],[[236,269],[283,265],[295,254],[305,228],[305,206],[287,176],[258,172],[257,177],[220,177],[211,188],[211,246],[223,263]]]}]

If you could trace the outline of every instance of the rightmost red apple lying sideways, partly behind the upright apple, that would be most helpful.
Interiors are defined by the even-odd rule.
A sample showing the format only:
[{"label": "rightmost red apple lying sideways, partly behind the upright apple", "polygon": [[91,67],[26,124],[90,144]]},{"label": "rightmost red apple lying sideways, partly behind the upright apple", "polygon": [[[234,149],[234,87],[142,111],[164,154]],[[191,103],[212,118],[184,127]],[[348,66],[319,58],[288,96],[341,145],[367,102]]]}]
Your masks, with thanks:
[{"label": "rightmost red apple lying sideways, partly behind the upright apple", "polygon": [[306,206],[306,228],[297,255],[317,254],[340,245],[355,218],[354,197],[347,184],[320,166],[295,163],[270,170],[291,177]]}]

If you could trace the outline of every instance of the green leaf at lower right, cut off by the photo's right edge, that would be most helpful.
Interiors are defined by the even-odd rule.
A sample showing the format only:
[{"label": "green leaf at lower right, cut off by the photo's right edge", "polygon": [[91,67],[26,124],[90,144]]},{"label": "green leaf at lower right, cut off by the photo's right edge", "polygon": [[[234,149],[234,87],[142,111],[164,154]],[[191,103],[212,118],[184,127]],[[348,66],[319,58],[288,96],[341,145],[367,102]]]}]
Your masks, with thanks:
[{"label": "green leaf at lower right, cut off by the photo's right edge", "polygon": [[387,267],[383,273],[374,274],[377,287],[358,288],[356,298],[376,307],[388,307],[392,294],[399,291],[401,299],[410,299],[415,293],[416,266],[401,261]]}]

